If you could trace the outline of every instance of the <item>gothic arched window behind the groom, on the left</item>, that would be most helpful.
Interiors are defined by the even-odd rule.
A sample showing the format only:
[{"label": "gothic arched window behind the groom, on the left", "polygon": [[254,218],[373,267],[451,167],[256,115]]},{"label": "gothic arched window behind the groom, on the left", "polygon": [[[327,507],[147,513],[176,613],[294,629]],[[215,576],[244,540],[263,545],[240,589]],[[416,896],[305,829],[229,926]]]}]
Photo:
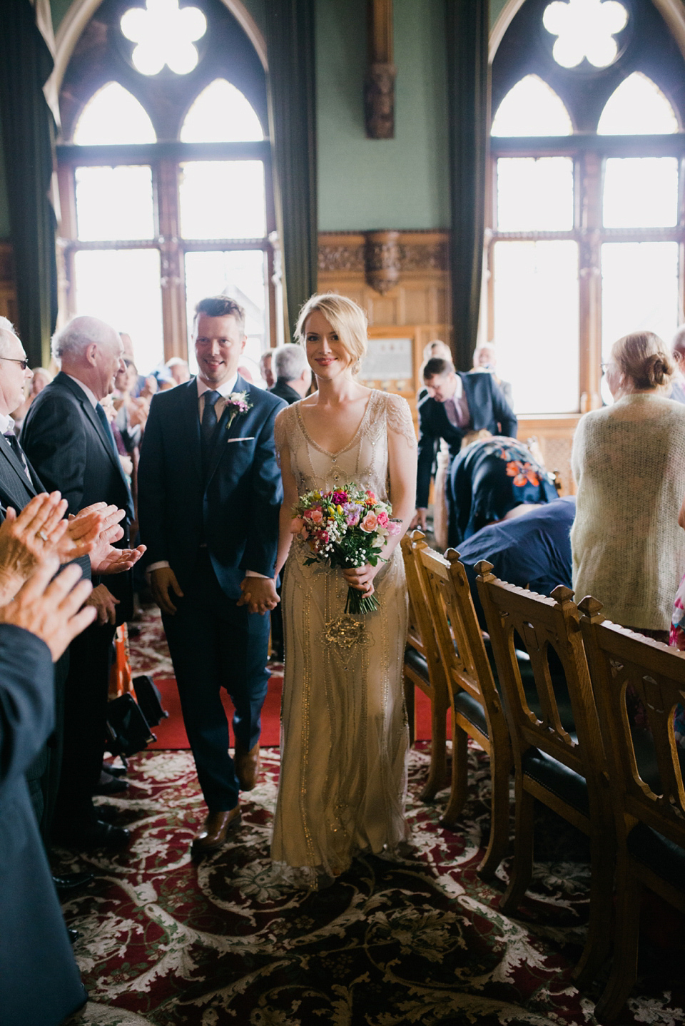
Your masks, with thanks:
[{"label": "gothic arched window behind the groom, on the left", "polygon": [[275,219],[265,70],[236,18],[220,0],[104,0],[59,109],[63,311],[127,331],[148,372],[187,356],[195,304],[226,292],[258,377]]}]

